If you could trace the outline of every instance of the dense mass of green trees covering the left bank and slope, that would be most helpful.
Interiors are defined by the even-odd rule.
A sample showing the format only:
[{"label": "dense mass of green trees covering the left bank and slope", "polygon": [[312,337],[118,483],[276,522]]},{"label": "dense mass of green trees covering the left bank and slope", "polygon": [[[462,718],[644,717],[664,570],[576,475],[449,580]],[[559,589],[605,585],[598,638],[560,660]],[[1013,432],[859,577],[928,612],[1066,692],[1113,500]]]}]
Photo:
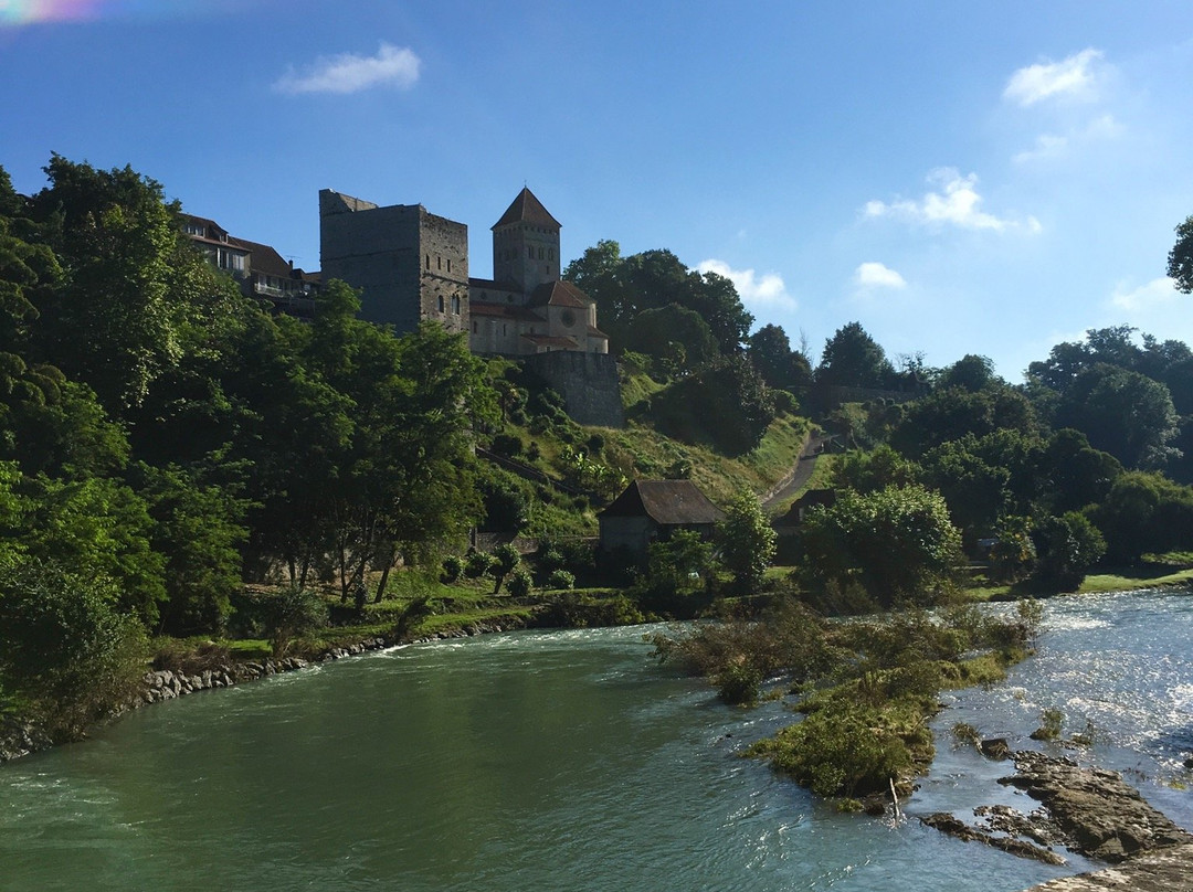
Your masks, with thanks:
[{"label": "dense mass of green trees covering the left bank and slope", "polygon": [[361,322],[342,283],[313,324],[271,317],[157,182],[45,173],[26,198],[0,169],[5,689],[74,724],[116,696],[130,642],[218,632],[246,575],[288,570],[283,642],[314,575],[347,596],[462,541],[472,432],[496,417],[462,336]]}]

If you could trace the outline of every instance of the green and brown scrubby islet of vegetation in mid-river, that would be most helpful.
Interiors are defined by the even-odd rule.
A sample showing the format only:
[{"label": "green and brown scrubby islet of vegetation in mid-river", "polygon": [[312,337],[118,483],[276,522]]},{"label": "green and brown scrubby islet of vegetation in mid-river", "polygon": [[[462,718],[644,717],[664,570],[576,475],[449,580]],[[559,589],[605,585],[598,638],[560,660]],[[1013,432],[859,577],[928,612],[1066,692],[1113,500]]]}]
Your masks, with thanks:
[{"label": "green and brown scrubby islet of vegetation in mid-river", "polygon": [[833,622],[785,599],[754,620],[653,642],[661,661],[707,676],[728,702],[755,702],[767,681],[791,698],[804,718],[748,755],[852,809],[859,798],[910,792],[934,755],[927,721],[940,692],[1003,677],[1026,656],[1039,620],[1038,605],[1024,601],[1008,620],[956,607]]}]

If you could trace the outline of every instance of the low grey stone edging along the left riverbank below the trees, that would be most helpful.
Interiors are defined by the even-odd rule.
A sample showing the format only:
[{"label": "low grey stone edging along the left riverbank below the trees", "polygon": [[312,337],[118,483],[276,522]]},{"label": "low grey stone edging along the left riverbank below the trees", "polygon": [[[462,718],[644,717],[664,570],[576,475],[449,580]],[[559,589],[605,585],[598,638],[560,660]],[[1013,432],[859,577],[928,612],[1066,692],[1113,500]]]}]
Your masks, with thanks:
[{"label": "low grey stone edging along the left riverbank below the trees", "polygon": [[[279,659],[229,662],[191,671],[156,669],[146,673],[141,688],[126,704],[113,711],[112,719],[118,718],[129,710],[174,700],[187,694],[197,694],[200,690],[227,688],[233,685],[242,685],[280,673],[295,671],[311,663],[342,659],[383,648],[392,648],[397,644],[420,644],[449,638],[470,638],[492,632],[508,632],[525,626],[525,619],[512,615],[501,620],[475,622],[460,628],[445,630],[406,642],[387,636],[364,638],[359,642],[328,648],[313,659],[283,657]],[[0,764],[39,750],[50,749],[55,743],[62,743],[62,741],[55,741],[38,723],[13,716],[0,716]]]}]

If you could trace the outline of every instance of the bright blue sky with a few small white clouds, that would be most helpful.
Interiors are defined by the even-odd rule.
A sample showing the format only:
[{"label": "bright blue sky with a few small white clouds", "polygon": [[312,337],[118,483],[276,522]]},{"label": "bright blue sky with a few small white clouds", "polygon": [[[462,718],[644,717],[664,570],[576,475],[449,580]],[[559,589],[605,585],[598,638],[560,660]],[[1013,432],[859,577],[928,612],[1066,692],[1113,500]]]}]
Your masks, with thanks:
[{"label": "bright blue sky with a few small white clouds", "polygon": [[316,270],[319,190],[468,224],[523,186],[729,275],[815,361],[863,327],[1013,383],[1089,328],[1193,345],[1188,0],[0,0],[0,166],[130,165]]}]

